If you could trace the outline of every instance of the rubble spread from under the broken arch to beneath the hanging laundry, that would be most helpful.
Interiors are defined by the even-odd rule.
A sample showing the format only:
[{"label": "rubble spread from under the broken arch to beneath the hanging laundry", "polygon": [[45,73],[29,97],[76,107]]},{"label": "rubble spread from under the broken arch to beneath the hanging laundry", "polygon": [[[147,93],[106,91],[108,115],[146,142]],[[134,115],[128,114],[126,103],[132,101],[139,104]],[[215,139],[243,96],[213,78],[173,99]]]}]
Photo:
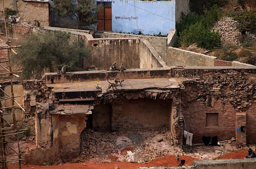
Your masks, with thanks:
[{"label": "rubble spread from under the broken arch to beneath the hanging laundry", "polygon": [[86,160],[97,159],[98,162],[143,163],[176,154],[209,160],[238,150],[235,141],[223,142],[220,146],[183,146],[182,149],[172,146],[170,135],[171,131],[165,127],[112,133],[87,130],[81,134],[80,157]]}]

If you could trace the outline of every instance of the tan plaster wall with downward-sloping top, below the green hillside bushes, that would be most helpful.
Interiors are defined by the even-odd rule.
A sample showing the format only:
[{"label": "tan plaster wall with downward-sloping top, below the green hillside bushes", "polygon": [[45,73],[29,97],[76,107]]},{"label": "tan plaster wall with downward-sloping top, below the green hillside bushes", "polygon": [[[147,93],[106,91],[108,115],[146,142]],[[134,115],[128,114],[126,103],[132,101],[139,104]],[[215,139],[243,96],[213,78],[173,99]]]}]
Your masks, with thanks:
[{"label": "tan plaster wall with downward-sloping top, below the green hillside bushes", "polygon": [[168,47],[163,60],[168,66],[214,66],[216,57]]}]

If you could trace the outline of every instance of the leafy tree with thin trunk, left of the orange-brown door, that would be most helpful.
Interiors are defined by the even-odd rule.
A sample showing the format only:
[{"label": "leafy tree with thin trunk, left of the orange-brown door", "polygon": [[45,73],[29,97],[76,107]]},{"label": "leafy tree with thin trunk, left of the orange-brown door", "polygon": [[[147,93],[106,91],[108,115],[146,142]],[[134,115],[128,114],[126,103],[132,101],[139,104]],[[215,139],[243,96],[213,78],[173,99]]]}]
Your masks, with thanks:
[{"label": "leafy tree with thin trunk, left of the orange-brown door", "polygon": [[80,28],[81,22],[87,21],[95,24],[97,20],[97,12],[101,9],[95,0],[54,0],[56,19],[77,19],[77,29]]}]

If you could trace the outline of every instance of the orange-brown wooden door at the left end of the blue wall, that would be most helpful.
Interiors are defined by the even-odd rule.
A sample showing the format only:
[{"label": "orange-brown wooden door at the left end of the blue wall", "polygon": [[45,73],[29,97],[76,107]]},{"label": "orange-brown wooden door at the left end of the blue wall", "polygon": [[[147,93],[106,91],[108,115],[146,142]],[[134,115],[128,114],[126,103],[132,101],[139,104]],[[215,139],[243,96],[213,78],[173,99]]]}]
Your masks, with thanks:
[{"label": "orange-brown wooden door at the left end of the blue wall", "polygon": [[111,2],[97,2],[101,5],[102,9],[98,13],[99,24],[98,31],[112,31],[112,15],[111,15]]}]

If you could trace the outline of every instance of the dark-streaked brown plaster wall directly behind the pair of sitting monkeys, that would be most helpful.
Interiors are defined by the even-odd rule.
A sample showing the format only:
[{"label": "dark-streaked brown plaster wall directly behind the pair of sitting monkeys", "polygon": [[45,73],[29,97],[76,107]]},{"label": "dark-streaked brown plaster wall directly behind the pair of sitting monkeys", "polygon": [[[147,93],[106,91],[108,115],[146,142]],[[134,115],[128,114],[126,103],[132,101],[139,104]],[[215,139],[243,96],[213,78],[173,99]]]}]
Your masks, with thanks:
[{"label": "dark-streaked brown plaster wall directly behind the pair of sitting monkeys", "polygon": [[119,67],[140,68],[140,41],[137,38],[93,39],[88,41],[92,56],[84,59],[84,68],[94,65],[99,70],[109,70],[113,62]]}]

